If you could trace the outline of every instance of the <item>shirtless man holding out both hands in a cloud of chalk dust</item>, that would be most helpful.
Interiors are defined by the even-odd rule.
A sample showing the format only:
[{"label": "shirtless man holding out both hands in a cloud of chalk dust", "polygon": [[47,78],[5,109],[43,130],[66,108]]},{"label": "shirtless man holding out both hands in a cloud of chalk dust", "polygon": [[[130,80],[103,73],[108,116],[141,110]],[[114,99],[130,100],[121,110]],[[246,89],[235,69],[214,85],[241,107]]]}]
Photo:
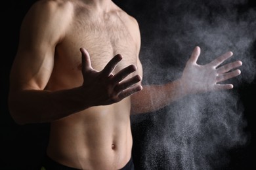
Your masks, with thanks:
[{"label": "shirtless man holding out both hands in a cloud of chalk dust", "polygon": [[196,46],[181,78],[142,90],[139,51],[137,21],[111,0],[41,0],[28,11],[11,70],[9,108],[18,124],[51,122],[45,169],[133,169],[131,113],[231,89],[217,83],[240,75],[236,67],[242,65],[218,67],[232,52],[198,65]]}]

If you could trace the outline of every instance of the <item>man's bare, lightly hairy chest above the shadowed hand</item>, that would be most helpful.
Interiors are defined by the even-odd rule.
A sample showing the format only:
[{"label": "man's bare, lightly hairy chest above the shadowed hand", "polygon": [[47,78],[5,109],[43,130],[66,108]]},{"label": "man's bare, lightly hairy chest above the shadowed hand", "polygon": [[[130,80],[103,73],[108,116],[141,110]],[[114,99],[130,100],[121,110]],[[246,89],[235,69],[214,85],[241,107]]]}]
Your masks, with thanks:
[{"label": "man's bare, lightly hairy chest above the shadowed hand", "polygon": [[79,48],[85,48],[94,69],[101,71],[116,54],[123,56],[115,71],[137,61],[137,48],[131,31],[118,18],[74,22],[58,47],[58,56],[66,68],[76,69],[81,64]]}]

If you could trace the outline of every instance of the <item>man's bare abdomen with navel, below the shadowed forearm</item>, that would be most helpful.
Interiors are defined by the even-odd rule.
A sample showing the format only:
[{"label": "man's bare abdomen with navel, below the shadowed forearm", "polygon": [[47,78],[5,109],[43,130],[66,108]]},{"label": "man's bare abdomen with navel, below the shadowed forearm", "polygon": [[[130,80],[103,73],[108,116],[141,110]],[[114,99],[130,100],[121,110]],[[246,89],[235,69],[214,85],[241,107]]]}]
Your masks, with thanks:
[{"label": "man's bare abdomen with navel, below the shadowed forearm", "polygon": [[48,156],[77,169],[121,169],[131,158],[130,106],[127,97],[53,122]]}]

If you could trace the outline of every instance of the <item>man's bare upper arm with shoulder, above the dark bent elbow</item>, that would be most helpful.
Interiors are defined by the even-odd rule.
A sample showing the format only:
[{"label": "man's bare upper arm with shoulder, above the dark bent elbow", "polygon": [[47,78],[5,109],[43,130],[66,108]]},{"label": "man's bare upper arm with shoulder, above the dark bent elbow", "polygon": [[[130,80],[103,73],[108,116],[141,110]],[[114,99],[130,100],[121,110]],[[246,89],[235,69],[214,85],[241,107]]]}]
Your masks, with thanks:
[{"label": "man's bare upper arm with shoulder, above the dark bent elbow", "polygon": [[11,91],[43,90],[47,85],[54,67],[55,46],[67,25],[63,12],[56,1],[38,1],[24,17],[12,63]]}]

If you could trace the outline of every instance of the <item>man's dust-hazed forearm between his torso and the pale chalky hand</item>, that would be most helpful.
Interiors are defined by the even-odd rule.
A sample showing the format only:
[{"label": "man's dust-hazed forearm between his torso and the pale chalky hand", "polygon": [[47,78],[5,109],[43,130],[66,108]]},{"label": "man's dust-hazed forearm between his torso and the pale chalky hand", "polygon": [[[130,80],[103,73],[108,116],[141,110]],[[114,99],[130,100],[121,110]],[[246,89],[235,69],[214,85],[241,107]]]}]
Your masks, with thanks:
[{"label": "man's dust-hazed forearm between his torso and the pale chalky hand", "polygon": [[143,86],[143,90],[132,96],[132,114],[152,112],[188,95],[181,86],[181,80],[163,85]]}]

